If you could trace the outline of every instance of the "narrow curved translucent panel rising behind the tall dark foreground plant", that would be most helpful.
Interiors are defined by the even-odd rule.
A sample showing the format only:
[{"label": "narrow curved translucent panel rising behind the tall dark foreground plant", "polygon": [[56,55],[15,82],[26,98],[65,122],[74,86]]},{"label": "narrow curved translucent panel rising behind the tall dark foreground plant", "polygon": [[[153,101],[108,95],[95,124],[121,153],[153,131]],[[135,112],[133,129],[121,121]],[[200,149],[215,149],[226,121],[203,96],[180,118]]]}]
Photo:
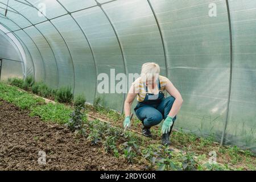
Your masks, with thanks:
[{"label": "narrow curved translucent panel rising behind the tall dark foreground plant", "polygon": [[69,15],[54,19],[52,23],[60,31],[71,51],[76,78],[75,94],[84,94],[88,102],[93,102],[96,92],[96,65],[86,35]]}]

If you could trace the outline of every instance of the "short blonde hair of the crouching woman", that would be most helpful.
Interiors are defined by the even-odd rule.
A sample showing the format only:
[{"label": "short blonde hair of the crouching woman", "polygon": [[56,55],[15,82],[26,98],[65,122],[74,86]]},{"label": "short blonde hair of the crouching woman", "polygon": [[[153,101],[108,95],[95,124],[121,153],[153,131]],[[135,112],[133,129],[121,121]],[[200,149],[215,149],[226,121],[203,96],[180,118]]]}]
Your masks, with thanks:
[{"label": "short blonde hair of the crouching woman", "polygon": [[143,81],[146,81],[147,79],[151,79],[152,77],[155,77],[155,76],[158,77],[159,73],[160,73],[160,67],[156,63],[145,63],[142,65],[141,76]]}]

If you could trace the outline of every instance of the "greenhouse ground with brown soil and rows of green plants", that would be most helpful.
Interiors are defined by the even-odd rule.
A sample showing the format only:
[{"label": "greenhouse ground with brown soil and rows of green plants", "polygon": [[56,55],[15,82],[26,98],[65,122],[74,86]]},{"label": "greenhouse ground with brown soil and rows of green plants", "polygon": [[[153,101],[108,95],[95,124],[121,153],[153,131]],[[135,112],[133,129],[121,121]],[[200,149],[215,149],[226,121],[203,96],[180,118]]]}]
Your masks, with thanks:
[{"label": "greenhouse ground with brown soil and rows of green plants", "polygon": [[[162,146],[160,127],[143,137],[136,118],[123,133],[123,115],[100,105],[84,106],[82,137],[65,126],[72,102],[50,99],[0,82],[0,170],[255,170],[250,151],[214,138],[173,131],[171,146]],[[46,164],[39,164],[40,151]]]}]

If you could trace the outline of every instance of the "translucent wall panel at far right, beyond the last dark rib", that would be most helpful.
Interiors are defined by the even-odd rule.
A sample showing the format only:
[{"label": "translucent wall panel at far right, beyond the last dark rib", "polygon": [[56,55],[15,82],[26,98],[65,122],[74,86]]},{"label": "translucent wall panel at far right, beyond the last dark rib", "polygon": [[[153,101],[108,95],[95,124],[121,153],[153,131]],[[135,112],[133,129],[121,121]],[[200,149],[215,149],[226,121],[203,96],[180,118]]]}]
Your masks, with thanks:
[{"label": "translucent wall panel at far right, beyond the last dark rib", "polygon": [[256,151],[256,3],[230,1],[233,71],[226,144]]}]

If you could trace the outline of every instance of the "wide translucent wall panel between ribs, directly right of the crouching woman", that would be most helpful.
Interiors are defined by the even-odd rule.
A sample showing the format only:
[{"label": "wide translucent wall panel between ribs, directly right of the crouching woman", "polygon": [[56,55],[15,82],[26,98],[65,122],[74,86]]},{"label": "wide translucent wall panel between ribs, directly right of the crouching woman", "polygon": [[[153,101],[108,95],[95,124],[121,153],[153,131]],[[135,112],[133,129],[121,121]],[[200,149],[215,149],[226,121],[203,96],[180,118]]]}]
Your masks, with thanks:
[{"label": "wide translucent wall panel between ribs, directly right of the crouching woman", "polygon": [[[207,9],[216,3],[218,15]],[[221,138],[229,91],[230,43],[225,1],[151,0],[167,47],[168,78],[183,96],[176,127]]]}]

